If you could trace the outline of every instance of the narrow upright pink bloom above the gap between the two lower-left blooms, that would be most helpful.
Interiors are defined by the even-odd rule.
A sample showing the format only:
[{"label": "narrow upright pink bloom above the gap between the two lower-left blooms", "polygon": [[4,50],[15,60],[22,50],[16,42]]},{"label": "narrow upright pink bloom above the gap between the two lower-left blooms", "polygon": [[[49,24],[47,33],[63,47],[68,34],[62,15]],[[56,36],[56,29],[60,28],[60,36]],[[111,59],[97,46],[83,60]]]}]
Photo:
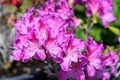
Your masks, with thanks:
[{"label": "narrow upright pink bloom above the gap between the two lower-left blooms", "polygon": [[38,38],[39,45],[45,45],[45,41],[48,39],[48,30],[46,29],[46,21],[41,16],[34,18],[34,32],[35,36]]}]

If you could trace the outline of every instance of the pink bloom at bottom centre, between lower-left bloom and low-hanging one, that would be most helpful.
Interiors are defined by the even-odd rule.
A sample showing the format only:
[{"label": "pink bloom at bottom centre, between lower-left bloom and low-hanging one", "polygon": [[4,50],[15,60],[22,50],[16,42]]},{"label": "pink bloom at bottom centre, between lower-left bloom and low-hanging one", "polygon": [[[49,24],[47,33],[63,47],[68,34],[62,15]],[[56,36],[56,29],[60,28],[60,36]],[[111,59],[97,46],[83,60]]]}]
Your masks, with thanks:
[{"label": "pink bloom at bottom centre, between lower-left bloom and low-hanging one", "polygon": [[63,61],[63,57],[65,56],[66,51],[65,47],[69,41],[70,36],[71,35],[67,32],[60,32],[59,35],[57,35],[55,38],[52,38],[51,36],[48,37],[48,40],[45,43],[45,48],[55,62],[61,63]]}]

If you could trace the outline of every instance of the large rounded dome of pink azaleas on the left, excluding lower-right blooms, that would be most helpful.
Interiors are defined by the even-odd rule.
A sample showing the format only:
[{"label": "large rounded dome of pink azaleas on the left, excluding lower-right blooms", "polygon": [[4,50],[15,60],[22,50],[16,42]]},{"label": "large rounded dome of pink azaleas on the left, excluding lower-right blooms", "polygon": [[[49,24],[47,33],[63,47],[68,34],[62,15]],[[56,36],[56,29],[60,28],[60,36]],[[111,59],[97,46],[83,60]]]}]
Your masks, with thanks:
[{"label": "large rounded dome of pink azaleas on the left, excluding lower-right blooms", "polygon": [[[12,55],[23,62],[32,57],[39,60],[52,57],[55,62],[61,62],[72,41],[82,43],[73,35],[78,24],[79,20],[73,17],[73,10],[64,0],[57,5],[51,0],[40,9],[30,8],[15,24],[17,32]],[[68,26],[73,30],[67,30]]]}]

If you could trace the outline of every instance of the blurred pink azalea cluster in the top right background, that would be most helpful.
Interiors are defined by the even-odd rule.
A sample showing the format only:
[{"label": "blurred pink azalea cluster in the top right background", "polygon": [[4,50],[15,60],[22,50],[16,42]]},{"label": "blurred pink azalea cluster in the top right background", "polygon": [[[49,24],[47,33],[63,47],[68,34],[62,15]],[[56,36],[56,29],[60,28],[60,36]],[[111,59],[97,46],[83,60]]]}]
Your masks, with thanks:
[{"label": "blurred pink azalea cluster in the top right background", "polygon": [[[99,17],[102,20],[104,28],[108,28],[108,23],[116,21],[113,14],[113,0],[68,0],[70,4],[80,5],[83,3],[86,7],[88,17]],[[94,20],[96,23],[96,20]]]}]

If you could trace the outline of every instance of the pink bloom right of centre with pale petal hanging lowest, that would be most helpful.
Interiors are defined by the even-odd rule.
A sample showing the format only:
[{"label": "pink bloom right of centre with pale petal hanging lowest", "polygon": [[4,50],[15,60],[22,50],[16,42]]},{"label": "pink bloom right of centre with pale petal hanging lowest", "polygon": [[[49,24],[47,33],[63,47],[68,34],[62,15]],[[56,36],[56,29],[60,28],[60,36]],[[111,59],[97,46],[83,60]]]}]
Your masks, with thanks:
[{"label": "pink bloom right of centre with pale petal hanging lowest", "polygon": [[63,62],[60,64],[62,70],[69,71],[72,66],[72,62],[77,63],[79,56],[81,56],[82,50],[84,48],[84,43],[79,40],[71,37],[67,46],[65,57],[63,58]]}]

